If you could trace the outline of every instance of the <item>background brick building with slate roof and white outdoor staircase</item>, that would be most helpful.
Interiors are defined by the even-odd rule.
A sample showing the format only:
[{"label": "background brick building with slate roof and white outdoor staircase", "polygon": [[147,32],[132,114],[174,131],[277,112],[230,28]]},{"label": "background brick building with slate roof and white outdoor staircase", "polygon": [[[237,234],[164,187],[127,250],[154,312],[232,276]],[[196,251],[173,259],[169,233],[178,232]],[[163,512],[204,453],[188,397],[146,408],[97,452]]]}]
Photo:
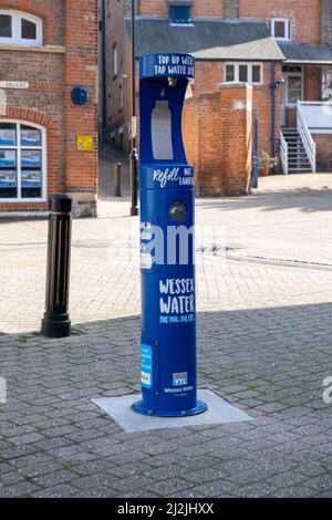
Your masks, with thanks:
[{"label": "background brick building with slate roof and white outdoor staircase", "polygon": [[[104,124],[125,149],[131,136],[129,4],[105,2]],[[325,166],[332,160],[325,102],[332,93],[332,0],[137,0],[136,58],[147,52],[194,54],[194,98],[216,92],[220,83],[249,83],[259,149],[279,156],[279,170],[315,170],[317,160]],[[204,136],[199,146],[206,146]]]}]

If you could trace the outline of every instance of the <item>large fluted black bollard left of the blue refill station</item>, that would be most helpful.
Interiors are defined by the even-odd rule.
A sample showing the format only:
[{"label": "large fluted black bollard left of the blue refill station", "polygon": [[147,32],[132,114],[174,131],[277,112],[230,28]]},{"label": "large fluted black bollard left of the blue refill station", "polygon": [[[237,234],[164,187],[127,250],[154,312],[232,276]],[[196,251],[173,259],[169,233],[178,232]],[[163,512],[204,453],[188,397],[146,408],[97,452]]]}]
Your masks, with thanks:
[{"label": "large fluted black bollard left of the blue refill station", "polygon": [[69,288],[72,235],[72,198],[53,195],[50,199],[46,303],[41,333],[48,337],[71,335]]}]

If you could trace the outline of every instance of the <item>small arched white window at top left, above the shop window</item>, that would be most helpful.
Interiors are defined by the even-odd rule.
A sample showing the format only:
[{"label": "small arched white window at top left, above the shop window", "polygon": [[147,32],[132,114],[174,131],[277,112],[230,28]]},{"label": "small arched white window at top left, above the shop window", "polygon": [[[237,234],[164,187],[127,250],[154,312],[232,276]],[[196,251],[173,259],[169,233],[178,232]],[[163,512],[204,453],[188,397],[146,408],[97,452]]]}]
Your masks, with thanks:
[{"label": "small arched white window at top left, above the shop window", "polygon": [[42,20],[20,11],[0,11],[0,44],[42,45]]}]

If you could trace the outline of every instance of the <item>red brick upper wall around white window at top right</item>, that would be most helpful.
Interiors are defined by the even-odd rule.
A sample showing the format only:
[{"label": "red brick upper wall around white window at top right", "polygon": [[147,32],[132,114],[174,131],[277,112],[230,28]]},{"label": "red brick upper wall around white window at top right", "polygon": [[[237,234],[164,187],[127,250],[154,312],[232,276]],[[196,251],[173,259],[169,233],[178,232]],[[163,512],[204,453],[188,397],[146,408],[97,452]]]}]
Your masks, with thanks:
[{"label": "red brick upper wall around white window at top right", "polygon": [[239,0],[241,18],[291,18],[293,40],[321,43],[322,0]]}]

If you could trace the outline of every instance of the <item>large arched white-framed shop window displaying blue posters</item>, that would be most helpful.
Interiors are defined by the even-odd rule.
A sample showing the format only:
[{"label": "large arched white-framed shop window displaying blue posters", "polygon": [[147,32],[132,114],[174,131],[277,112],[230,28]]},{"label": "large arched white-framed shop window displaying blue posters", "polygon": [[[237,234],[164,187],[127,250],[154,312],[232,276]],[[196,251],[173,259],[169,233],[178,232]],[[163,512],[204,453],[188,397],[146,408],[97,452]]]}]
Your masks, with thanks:
[{"label": "large arched white-framed shop window displaying blue posters", "polygon": [[0,119],[0,204],[46,200],[46,132]]}]

